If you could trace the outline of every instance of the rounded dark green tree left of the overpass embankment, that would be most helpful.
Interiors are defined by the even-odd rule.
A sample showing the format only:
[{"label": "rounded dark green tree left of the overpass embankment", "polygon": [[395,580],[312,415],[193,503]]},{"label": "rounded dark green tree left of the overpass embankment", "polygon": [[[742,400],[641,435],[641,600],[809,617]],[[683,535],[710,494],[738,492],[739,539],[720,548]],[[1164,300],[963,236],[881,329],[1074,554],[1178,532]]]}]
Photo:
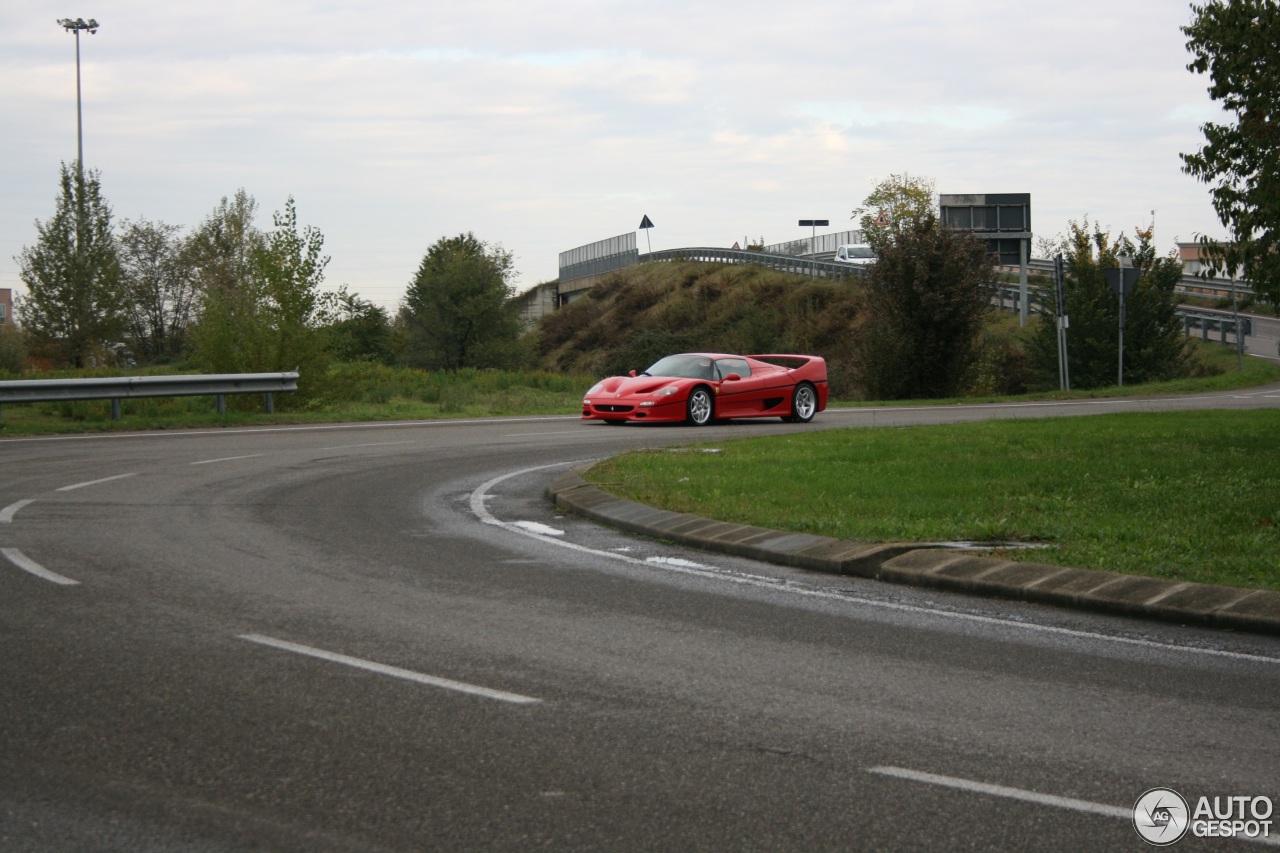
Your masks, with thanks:
[{"label": "rounded dark green tree left of the overpass embankment", "polygon": [[422,257],[401,305],[407,347],[416,366],[506,366],[520,336],[512,300],[511,252],[472,233],[442,237]]}]

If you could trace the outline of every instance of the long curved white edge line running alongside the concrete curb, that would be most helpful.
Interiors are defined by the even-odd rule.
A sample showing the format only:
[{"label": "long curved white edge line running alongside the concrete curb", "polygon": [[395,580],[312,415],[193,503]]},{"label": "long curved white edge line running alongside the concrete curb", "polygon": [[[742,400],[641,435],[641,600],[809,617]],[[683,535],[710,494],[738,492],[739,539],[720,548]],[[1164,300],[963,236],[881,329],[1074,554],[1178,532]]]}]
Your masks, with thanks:
[{"label": "long curved white edge line running alongside the concrete curb", "polygon": [[[804,596],[808,598],[822,598],[827,601],[838,601],[849,605],[861,605],[864,607],[878,607],[881,610],[892,610],[902,613],[923,613],[927,616],[945,616],[948,619],[955,619],[960,621],[977,622],[979,625],[996,625],[1000,628],[1018,628],[1028,631],[1039,631],[1042,634],[1053,634],[1059,637],[1071,637],[1075,639],[1085,640],[1102,640],[1106,643],[1120,643],[1123,646],[1137,646],[1139,648],[1152,648],[1160,649],[1162,652],[1185,652],[1190,654],[1206,654],[1210,657],[1225,657],[1235,661],[1251,661],[1254,663],[1270,663],[1272,666],[1280,665],[1280,657],[1268,657],[1266,654],[1249,654],[1247,652],[1229,652],[1226,649],[1219,648],[1199,648],[1196,646],[1176,646],[1172,643],[1157,643],[1155,640],[1135,639],[1132,637],[1112,637],[1110,634],[1098,634],[1096,631],[1080,631],[1071,628],[1057,628],[1056,625],[1039,625],[1037,622],[1023,622],[1012,619],[997,619],[995,616],[979,616],[977,613],[961,613],[952,610],[941,610],[937,607],[924,607],[920,605],[901,605],[897,602],[888,601],[876,601],[873,598],[863,598],[860,596],[850,596],[841,592],[832,592],[829,589],[818,589],[813,587],[804,585],[794,580],[786,580],[780,578],[769,578],[764,575],[750,575],[746,573],[730,573],[721,569],[703,567],[692,569],[690,566],[680,566],[673,564],[653,564],[648,560],[641,560],[637,557],[628,557],[623,553],[617,553],[612,551],[599,551],[598,548],[589,548],[586,546],[577,544],[576,542],[566,542],[563,539],[549,539],[511,524],[508,521],[502,521],[489,512],[484,502],[489,500],[489,489],[497,484],[509,480],[524,474],[531,474],[534,471],[544,471],[549,467],[570,467],[573,465],[585,465],[594,460],[576,460],[572,462],[556,462],[553,465],[535,465],[534,467],[521,469],[518,471],[511,471],[509,474],[503,474],[502,476],[495,476],[486,483],[481,483],[471,493],[471,512],[475,514],[483,524],[492,524],[499,526],[512,533],[518,533],[521,535],[536,538],[540,542],[549,542],[557,544],[562,548],[570,548],[571,551],[577,551],[580,553],[589,553],[598,557],[607,557],[609,560],[617,560],[620,562],[627,562],[636,566],[649,566],[660,567],[664,571],[671,571],[682,575],[694,575],[696,578],[707,578],[714,580],[722,580],[726,583],[735,583],[744,587],[756,587],[759,589],[772,589],[773,592],[786,592],[795,596]],[[694,564],[696,565],[696,564]]]}]

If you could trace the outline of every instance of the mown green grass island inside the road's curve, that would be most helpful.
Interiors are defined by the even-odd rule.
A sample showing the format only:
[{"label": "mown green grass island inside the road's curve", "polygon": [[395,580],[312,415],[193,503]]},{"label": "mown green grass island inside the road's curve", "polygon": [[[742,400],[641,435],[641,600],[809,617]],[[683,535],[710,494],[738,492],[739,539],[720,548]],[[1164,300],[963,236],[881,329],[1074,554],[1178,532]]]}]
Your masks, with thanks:
[{"label": "mown green grass island inside the road's curve", "polygon": [[1280,411],[842,429],[640,452],[589,479],[644,503],[863,542],[1280,589]]}]

